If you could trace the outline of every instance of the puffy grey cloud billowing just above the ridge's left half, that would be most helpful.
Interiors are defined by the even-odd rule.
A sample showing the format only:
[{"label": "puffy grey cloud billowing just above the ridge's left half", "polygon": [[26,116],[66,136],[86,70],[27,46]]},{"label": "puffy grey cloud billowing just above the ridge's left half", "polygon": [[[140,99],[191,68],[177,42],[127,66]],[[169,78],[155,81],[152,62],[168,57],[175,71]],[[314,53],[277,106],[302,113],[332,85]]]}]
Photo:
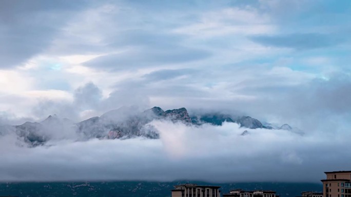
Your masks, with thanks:
[{"label": "puffy grey cloud billowing just above the ridge's left half", "polygon": [[123,106],[138,106],[141,110],[149,108],[149,95],[144,91],[133,89],[130,86],[120,87],[107,97],[94,83],[88,82],[77,87],[71,95],[72,99],[42,98],[31,109],[32,117],[43,120],[49,115],[58,115],[71,119],[73,122],[86,120],[94,116],[101,116],[110,110]]}]

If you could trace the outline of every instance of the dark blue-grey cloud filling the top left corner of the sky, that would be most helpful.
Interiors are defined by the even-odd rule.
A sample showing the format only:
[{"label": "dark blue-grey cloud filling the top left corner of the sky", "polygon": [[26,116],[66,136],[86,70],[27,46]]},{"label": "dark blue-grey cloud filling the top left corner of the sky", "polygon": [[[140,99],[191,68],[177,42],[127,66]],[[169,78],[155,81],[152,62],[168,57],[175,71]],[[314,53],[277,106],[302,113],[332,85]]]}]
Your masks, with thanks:
[{"label": "dark blue-grey cloud filling the top left corner of the sky", "polygon": [[11,68],[45,51],[66,21],[86,6],[86,1],[2,1],[0,68]]}]

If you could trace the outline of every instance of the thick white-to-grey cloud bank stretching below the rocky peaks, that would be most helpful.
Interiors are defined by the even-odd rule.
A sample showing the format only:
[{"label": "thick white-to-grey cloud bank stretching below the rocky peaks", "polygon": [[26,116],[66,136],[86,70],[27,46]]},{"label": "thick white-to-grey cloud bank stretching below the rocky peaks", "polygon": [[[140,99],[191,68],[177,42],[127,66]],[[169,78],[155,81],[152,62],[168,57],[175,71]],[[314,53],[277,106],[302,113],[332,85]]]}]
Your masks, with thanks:
[{"label": "thick white-to-grey cloud bank stretching below the rocky peaks", "polygon": [[[64,140],[26,148],[15,146],[13,136],[0,138],[0,167],[6,169],[0,170],[0,179],[319,182],[323,171],[333,170],[331,166],[347,168],[351,161],[345,154],[347,139],[336,136],[332,139],[337,143],[330,144],[330,136],[300,136],[285,130],[248,129],[250,135],[241,136],[244,128],[235,123],[151,124],[160,130],[160,140]],[[335,158],[338,164],[333,163]]]}]

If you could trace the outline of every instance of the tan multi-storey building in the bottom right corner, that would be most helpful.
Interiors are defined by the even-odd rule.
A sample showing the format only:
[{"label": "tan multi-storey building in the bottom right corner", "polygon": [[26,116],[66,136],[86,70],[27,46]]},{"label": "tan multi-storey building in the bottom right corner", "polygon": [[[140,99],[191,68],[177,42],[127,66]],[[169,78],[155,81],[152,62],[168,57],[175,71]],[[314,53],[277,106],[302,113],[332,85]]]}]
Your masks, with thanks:
[{"label": "tan multi-storey building in the bottom right corner", "polygon": [[323,197],[351,197],[351,171],[324,172]]}]

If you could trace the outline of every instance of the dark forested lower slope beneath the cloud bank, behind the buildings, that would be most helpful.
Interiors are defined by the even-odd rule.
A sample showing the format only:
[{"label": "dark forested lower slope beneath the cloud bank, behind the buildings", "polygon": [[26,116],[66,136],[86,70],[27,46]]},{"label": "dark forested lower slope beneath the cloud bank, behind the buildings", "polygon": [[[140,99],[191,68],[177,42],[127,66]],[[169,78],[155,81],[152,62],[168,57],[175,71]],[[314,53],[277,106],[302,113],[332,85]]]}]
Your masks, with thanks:
[{"label": "dark forested lower slope beneath the cloud bank, behind the buildings", "polygon": [[[235,180],[233,180],[235,181]],[[28,197],[170,197],[174,185],[195,183],[198,185],[221,186],[222,193],[230,189],[274,190],[281,197],[300,196],[301,191],[320,191],[320,183],[207,183],[199,181],[146,182],[146,181],[113,181],[113,182],[31,182],[0,183],[0,196]]]}]

